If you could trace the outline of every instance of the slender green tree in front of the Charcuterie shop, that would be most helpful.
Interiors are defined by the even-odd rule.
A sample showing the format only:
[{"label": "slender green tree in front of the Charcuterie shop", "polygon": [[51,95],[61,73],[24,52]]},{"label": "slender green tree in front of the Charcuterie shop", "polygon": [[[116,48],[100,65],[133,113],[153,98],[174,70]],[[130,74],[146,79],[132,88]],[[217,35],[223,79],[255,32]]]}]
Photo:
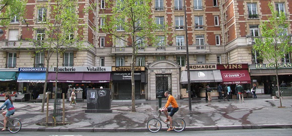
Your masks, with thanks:
[{"label": "slender green tree in front of the Charcuterie shop", "polygon": [[[131,57],[131,85],[132,85],[132,112],[135,109],[135,80],[134,66],[138,50],[145,49],[148,45],[157,45],[158,41],[166,38],[157,38],[155,31],[167,33],[167,25],[157,25],[152,18],[151,0],[117,0],[106,2],[112,13],[103,16],[105,24],[102,26],[104,33],[110,34],[113,42],[125,42],[132,47]],[[165,43],[165,41],[164,41]],[[123,45],[123,46],[125,46]]]}]

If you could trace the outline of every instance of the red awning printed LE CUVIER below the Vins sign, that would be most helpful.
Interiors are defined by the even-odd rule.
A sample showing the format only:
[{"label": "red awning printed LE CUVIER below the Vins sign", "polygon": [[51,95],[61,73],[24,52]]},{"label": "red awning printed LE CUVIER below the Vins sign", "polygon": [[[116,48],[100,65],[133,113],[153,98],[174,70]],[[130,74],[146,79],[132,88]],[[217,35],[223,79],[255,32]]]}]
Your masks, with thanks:
[{"label": "red awning printed LE CUVIER below the Vins sign", "polygon": [[223,84],[250,84],[248,70],[221,70]]}]

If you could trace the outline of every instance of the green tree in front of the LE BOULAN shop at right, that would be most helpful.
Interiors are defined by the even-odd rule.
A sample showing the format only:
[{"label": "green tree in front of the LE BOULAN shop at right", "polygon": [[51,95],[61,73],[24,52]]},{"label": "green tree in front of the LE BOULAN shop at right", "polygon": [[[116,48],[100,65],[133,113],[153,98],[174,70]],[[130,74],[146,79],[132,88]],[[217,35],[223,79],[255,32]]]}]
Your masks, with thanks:
[{"label": "green tree in front of the LE BOULAN shop at right", "polygon": [[[270,64],[273,64],[276,69],[277,84],[278,79],[278,66],[282,59],[292,51],[290,44],[290,36],[287,35],[288,20],[286,21],[285,14],[282,11],[274,11],[272,3],[268,4],[272,16],[268,21],[262,21],[260,28],[262,35],[255,38],[255,45],[253,48],[259,52],[260,57],[266,59]],[[278,92],[280,90],[279,85]],[[279,93],[280,107],[282,107],[281,93]]]}]

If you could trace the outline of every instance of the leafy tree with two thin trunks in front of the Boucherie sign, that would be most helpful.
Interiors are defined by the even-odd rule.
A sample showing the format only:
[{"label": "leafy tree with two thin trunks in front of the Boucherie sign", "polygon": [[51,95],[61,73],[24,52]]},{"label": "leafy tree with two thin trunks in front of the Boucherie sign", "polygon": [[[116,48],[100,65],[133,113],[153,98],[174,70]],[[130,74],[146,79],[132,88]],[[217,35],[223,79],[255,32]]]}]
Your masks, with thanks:
[{"label": "leafy tree with two thin trunks in front of the Boucherie sign", "polygon": [[[77,14],[78,2],[79,0],[54,0],[37,6],[39,26],[34,28],[38,32],[37,38],[29,40],[34,44],[36,52],[43,52],[46,59],[43,94],[46,93],[50,58],[54,53],[56,53],[57,59],[55,80],[55,92],[57,92],[59,54],[63,54],[68,49],[80,50],[91,47],[83,46],[83,28],[86,26],[82,25],[82,20]],[[47,17],[48,13],[50,14]],[[44,102],[45,97],[43,97],[41,112],[44,111]]]}]

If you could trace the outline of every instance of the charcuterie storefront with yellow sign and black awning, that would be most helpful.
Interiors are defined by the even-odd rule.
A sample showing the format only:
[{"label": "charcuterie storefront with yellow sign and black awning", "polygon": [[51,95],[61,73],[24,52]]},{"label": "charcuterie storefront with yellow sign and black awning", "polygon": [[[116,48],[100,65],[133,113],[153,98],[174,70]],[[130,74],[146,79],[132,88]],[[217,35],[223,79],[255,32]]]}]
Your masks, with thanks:
[{"label": "charcuterie storefront with yellow sign and black awning", "polygon": [[[131,99],[132,84],[130,66],[113,66],[112,82],[113,95],[112,99]],[[145,99],[145,67],[135,66],[135,99]]]}]

